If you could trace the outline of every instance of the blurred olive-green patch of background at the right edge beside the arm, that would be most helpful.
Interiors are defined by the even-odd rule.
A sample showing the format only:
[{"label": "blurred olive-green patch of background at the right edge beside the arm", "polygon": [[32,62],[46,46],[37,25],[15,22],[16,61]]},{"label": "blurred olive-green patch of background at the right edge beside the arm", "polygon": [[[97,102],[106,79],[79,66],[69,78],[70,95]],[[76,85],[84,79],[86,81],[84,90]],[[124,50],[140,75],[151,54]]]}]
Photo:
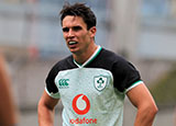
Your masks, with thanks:
[{"label": "blurred olive-green patch of background at the right edge beside the arm", "polygon": [[176,67],[161,77],[153,85],[150,90],[158,106],[176,104]]}]

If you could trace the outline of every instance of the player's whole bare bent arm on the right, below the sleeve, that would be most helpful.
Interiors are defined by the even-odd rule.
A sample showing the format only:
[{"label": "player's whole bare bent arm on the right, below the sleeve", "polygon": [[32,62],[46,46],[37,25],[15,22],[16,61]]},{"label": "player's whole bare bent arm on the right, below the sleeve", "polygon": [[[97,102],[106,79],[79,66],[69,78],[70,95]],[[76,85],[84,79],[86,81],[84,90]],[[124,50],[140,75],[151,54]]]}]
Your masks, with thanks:
[{"label": "player's whole bare bent arm on the right, below the sleeve", "polygon": [[134,126],[152,126],[157,106],[145,84],[139,84],[130,90],[128,96],[138,108]]}]

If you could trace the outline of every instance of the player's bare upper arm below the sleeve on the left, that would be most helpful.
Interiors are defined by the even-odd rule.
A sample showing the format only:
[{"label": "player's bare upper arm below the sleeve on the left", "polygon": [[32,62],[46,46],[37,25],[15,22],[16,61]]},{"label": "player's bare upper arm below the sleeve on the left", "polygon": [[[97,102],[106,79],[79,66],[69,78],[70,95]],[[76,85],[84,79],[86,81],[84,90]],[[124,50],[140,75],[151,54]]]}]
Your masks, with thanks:
[{"label": "player's bare upper arm below the sleeve on the left", "polygon": [[55,105],[57,104],[59,99],[54,99],[54,98],[51,98],[46,91],[44,91],[41,100],[40,100],[40,103],[38,103],[38,106],[46,106],[47,108],[50,110],[54,110]]}]

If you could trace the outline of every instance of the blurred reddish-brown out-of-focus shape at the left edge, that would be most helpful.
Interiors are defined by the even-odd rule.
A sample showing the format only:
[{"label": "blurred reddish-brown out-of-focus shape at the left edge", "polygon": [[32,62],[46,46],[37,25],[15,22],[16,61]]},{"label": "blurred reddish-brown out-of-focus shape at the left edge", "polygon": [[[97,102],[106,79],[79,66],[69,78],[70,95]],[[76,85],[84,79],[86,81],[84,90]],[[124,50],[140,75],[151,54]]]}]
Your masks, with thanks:
[{"label": "blurred reddish-brown out-of-focus shape at the left edge", "polygon": [[10,78],[6,70],[3,56],[0,54],[0,126],[14,126],[16,110],[12,98]]}]

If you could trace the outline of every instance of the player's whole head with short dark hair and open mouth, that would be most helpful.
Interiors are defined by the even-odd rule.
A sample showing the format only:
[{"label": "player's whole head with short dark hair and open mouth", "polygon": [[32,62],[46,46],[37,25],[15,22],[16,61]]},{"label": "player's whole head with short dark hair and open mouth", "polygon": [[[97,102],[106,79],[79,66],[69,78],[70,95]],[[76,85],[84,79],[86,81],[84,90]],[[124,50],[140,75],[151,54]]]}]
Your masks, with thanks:
[{"label": "player's whole head with short dark hair and open mouth", "polygon": [[61,12],[63,36],[75,55],[89,54],[95,48],[96,16],[82,3],[65,5]]}]

